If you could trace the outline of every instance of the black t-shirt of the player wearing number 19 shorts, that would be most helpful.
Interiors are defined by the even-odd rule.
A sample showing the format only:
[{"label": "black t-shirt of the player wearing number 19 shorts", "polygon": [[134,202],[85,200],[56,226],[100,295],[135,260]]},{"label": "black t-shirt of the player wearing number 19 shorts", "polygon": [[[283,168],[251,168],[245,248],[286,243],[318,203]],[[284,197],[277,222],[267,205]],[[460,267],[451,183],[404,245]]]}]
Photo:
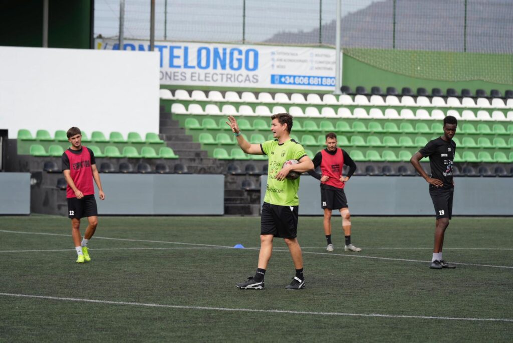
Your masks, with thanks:
[{"label": "black t-shirt of the player wearing number 19 shorts", "polygon": [[[419,150],[424,157],[429,157],[431,177],[438,178],[444,183],[444,188],[451,188],[452,165],[456,154],[456,143],[454,140],[446,142],[442,137],[430,140],[426,146]],[[432,185],[430,185],[432,186]]]}]

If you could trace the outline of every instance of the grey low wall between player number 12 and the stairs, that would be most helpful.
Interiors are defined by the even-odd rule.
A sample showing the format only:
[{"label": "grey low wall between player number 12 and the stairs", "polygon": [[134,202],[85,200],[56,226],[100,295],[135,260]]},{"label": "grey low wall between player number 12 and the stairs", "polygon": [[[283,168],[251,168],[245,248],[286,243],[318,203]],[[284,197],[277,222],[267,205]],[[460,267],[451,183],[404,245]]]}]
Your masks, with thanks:
[{"label": "grey low wall between player number 12 and the stairs", "polygon": [[223,215],[224,175],[101,174],[98,214]]}]

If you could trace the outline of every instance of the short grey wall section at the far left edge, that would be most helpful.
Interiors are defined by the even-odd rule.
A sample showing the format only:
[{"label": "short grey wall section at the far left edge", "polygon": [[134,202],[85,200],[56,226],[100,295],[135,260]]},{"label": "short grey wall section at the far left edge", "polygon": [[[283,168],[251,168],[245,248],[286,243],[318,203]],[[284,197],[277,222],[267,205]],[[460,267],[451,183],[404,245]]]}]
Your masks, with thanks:
[{"label": "short grey wall section at the far left edge", "polygon": [[29,173],[0,173],[0,214],[30,214]]}]

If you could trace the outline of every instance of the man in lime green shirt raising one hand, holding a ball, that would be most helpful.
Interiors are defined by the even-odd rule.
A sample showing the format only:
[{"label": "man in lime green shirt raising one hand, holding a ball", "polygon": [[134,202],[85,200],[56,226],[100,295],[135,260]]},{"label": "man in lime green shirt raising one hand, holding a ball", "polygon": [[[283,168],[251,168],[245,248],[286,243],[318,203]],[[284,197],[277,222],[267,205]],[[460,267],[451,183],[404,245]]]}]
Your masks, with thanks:
[{"label": "man in lime green shirt raising one hand, holding a ball", "polygon": [[[263,289],[264,275],[272,253],[272,239],[280,237],[285,240],[292,256],[295,276],[286,289],[298,290],[305,287],[303,276],[303,257],[296,232],[298,228],[299,207],[299,178],[287,179],[290,171],[303,173],[313,169],[313,163],[306,155],[305,150],[298,142],[290,139],[292,116],[288,113],[278,113],[271,116],[271,132],[274,140],[267,140],[262,144],[250,144],[241,134],[239,125],[233,116],[229,116],[233,133],[237,137],[239,146],[245,153],[262,155],[269,159],[267,172],[267,188],[260,217],[260,252],[257,273],[247,281],[237,284],[240,289]],[[298,164],[287,165],[283,163],[289,159],[297,159]]]}]

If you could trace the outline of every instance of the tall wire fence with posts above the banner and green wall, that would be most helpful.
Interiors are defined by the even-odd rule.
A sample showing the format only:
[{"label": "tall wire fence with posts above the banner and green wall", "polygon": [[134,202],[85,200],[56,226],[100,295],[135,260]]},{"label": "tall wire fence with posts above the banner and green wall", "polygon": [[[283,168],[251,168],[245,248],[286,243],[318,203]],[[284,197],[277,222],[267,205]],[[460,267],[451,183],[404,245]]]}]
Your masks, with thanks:
[{"label": "tall wire fence with posts above the banner and green wall", "polygon": [[[156,0],[155,39],[334,46],[337,0]],[[96,0],[94,34],[119,34]],[[513,53],[512,0],[342,0],[342,47]],[[150,0],[125,1],[125,38],[149,39]]]}]

